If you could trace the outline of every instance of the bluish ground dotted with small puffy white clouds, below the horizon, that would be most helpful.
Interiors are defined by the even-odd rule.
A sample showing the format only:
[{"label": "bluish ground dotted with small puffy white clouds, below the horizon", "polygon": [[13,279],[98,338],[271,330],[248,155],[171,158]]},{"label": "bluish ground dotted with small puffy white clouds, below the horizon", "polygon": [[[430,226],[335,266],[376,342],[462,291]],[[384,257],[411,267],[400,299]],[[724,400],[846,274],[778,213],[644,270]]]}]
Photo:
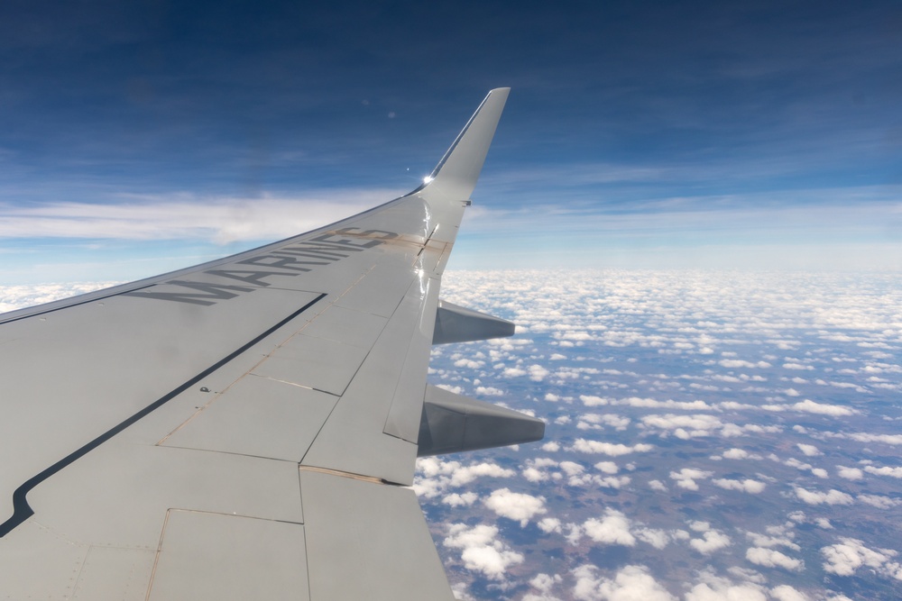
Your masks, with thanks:
[{"label": "bluish ground dotted with small puffy white clouds, below the horizon", "polygon": [[420,460],[457,596],[902,596],[896,276],[474,271],[443,297],[522,327],[436,348],[431,381],[548,422]]}]

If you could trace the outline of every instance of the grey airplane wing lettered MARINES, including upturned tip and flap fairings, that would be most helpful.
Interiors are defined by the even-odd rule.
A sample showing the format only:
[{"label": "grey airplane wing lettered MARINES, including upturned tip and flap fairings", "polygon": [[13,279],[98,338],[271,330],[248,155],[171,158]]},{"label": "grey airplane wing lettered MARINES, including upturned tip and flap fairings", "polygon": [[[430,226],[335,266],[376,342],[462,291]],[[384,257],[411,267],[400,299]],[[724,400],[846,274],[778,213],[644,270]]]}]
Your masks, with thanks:
[{"label": "grey airplane wing lettered MARINES, including upturned tip and flap fairings", "polygon": [[513,333],[439,299],[507,95],[407,196],[0,315],[0,597],[453,598],[416,458],[544,433],[427,384]]}]

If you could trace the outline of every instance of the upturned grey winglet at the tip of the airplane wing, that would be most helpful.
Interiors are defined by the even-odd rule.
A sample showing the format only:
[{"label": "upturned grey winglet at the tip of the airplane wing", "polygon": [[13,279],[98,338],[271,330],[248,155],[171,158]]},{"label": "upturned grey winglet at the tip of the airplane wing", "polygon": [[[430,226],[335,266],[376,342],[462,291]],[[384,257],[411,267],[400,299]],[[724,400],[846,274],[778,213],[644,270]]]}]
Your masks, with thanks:
[{"label": "upturned grey winglet at the tip of the airplane wing", "polygon": [[470,198],[510,91],[510,87],[499,87],[485,96],[464,130],[426,178],[426,184],[419,189],[420,196],[430,200]]}]

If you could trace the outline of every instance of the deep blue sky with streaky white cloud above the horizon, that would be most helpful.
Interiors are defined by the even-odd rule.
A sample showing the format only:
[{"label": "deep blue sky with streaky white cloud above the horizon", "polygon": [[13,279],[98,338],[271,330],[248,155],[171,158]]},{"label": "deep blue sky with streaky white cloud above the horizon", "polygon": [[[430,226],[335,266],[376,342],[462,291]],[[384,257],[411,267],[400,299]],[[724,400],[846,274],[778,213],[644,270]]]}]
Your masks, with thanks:
[{"label": "deep blue sky with streaky white cloud above the horizon", "polygon": [[389,200],[501,86],[451,269],[900,269],[899,73],[891,2],[8,2],[0,281]]}]

